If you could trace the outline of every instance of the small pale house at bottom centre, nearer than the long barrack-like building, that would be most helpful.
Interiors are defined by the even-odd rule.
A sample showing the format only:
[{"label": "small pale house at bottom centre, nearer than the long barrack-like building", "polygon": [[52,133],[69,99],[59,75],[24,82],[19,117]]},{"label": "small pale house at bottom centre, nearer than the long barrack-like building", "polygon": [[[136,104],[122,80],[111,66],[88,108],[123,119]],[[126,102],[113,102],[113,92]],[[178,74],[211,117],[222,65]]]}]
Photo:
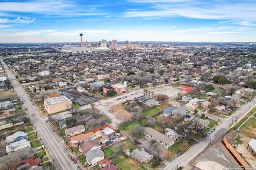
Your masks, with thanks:
[{"label": "small pale house at bottom centre, nearer than the long barrack-like building", "polygon": [[131,157],[138,160],[140,163],[148,163],[153,159],[153,155],[148,154],[144,148],[137,148],[132,151]]}]

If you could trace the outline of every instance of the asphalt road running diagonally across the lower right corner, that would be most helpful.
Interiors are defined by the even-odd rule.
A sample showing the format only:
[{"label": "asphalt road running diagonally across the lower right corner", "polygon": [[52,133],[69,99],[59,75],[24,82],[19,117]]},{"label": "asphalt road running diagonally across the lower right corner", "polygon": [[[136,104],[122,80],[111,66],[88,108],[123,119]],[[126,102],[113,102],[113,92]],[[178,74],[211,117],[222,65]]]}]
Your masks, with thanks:
[{"label": "asphalt road running diagonally across the lower right corner", "polygon": [[180,166],[186,166],[187,164],[189,164],[191,160],[193,160],[198,154],[200,154],[204,149],[206,149],[206,147],[209,146],[212,141],[217,140],[219,137],[221,137],[221,135],[225,134],[225,132],[235,124],[236,120],[238,121],[239,118],[245,116],[247,111],[253,108],[255,104],[256,98],[254,98],[250,103],[241,106],[236,113],[232,114],[231,116],[223,120],[215,128],[216,130],[210,135],[208,135],[207,138],[196,143],[194,146],[189,148],[184,154],[172,160],[172,162],[167,164],[162,169],[174,170]]}]

